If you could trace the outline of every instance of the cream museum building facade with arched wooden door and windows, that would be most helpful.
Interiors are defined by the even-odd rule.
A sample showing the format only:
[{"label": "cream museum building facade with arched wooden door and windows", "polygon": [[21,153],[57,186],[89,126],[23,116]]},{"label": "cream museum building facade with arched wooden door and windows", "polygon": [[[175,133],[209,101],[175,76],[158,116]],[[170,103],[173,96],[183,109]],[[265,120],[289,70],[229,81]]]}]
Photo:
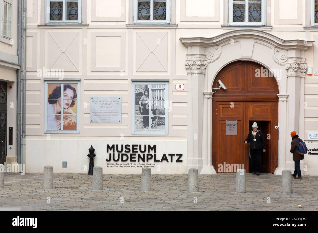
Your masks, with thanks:
[{"label": "cream museum building facade with arched wooden door and windows", "polygon": [[[294,169],[296,131],[311,152],[302,172],[318,175],[317,0],[26,8],[26,172],[87,173],[91,145],[106,174],[250,172],[244,140],[256,121],[266,135],[261,171]],[[7,126],[15,116],[8,110]]]}]

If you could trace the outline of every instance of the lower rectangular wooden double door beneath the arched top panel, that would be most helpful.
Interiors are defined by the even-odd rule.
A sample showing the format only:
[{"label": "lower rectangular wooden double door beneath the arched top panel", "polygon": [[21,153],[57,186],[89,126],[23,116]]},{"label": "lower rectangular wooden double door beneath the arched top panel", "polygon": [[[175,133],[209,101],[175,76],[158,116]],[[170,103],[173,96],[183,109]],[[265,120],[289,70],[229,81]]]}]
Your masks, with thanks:
[{"label": "lower rectangular wooden double door beneath the arched top panel", "polygon": [[[244,141],[252,130],[252,123],[258,124],[265,136],[266,152],[261,155],[260,172],[273,173],[277,167],[278,102],[212,102],[212,165],[217,172],[227,172],[226,166],[239,164],[246,172],[250,169],[249,147]],[[226,135],[226,121],[237,121],[237,134]],[[240,167],[237,167],[240,168]],[[236,169],[230,172],[236,172]]]}]

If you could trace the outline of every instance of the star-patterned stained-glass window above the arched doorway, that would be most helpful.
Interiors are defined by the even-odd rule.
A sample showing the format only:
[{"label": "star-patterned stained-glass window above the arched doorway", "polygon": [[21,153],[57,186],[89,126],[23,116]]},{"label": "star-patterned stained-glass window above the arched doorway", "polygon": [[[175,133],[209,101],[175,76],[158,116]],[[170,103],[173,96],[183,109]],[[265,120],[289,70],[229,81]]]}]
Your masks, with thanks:
[{"label": "star-patterned stained-glass window above the arched doorway", "polygon": [[264,25],[264,0],[230,0],[231,25]]}]

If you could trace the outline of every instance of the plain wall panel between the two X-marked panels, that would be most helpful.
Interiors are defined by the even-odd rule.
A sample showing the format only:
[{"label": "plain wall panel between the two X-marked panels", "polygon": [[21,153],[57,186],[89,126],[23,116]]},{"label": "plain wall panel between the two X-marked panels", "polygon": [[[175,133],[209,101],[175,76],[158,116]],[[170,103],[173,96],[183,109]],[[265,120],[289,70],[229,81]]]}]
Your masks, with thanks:
[{"label": "plain wall panel between the two X-marked panels", "polygon": [[125,71],[125,32],[92,32],[91,44],[91,71]]}]

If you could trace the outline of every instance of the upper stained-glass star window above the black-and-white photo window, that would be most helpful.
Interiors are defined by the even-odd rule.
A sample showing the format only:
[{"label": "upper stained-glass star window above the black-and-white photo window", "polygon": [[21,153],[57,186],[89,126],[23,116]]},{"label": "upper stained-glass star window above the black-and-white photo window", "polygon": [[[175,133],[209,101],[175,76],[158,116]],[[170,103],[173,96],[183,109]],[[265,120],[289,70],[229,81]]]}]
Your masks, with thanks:
[{"label": "upper stained-glass star window above the black-and-white photo window", "polygon": [[135,0],[135,17],[136,24],[159,24],[170,23],[170,1],[139,1]]}]

